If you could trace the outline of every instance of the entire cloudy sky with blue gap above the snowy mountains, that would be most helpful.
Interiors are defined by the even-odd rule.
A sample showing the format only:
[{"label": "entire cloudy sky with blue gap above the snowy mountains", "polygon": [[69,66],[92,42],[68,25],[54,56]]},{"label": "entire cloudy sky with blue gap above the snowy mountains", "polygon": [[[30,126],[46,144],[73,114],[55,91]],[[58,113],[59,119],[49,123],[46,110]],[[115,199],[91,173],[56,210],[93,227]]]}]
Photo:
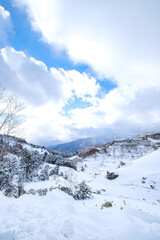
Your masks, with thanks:
[{"label": "entire cloudy sky with blue gap above the snowy mountains", "polygon": [[0,83],[37,144],[160,130],[159,0],[0,0]]}]

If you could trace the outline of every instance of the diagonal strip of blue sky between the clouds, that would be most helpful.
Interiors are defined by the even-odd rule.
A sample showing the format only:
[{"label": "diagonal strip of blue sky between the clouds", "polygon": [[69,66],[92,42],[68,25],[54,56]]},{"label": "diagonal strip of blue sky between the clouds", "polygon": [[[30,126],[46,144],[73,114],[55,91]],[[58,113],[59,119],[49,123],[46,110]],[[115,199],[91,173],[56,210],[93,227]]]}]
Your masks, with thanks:
[{"label": "diagonal strip of blue sky between the clouds", "polygon": [[[20,11],[14,7],[14,3],[10,0],[0,0],[0,5],[8,10],[11,14],[13,30],[9,33],[8,45],[15,48],[17,51],[23,51],[27,56],[32,56],[37,60],[43,61],[48,68],[63,68],[65,70],[75,69],[79,72],[87,72],[92,76],[95,75],[94,71],[87,64],[74,64],[71,61],[65,50],[58,51],[54,47],[41,40],[41,34],[34,32],[31,24],[28,21],[25,11]],[[1,47],[5,44],[1,43]],[[97,78],[99,81],[99,79]],[[109,79],[100,79],[104,90],[109,91],[113,89],[116,84],[112,83]]]}]

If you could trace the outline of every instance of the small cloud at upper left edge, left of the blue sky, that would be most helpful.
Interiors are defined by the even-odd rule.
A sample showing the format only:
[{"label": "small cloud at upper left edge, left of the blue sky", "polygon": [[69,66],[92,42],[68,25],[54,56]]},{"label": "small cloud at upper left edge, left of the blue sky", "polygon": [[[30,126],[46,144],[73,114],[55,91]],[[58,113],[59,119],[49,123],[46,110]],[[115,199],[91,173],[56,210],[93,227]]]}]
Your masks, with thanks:
[{"label": "small cloud at upper left edge, left of the blue sky", "polygon": [[10,13],[0,6],[0,43],[7,41],[7,34],[12,28]]}]

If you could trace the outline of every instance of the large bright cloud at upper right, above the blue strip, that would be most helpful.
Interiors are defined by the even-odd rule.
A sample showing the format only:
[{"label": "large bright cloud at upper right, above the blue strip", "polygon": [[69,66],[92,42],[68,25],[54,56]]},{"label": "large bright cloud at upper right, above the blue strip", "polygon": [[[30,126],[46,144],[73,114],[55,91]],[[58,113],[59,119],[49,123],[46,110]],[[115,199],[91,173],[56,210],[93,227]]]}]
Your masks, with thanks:
[{"label": "large bright cloud at upper right, above the blue strip", "polygon": [[[160,86],[160,2],[14,0],[45,42],[119,86]],[[52,27],[50,27],[52,26]]]}]

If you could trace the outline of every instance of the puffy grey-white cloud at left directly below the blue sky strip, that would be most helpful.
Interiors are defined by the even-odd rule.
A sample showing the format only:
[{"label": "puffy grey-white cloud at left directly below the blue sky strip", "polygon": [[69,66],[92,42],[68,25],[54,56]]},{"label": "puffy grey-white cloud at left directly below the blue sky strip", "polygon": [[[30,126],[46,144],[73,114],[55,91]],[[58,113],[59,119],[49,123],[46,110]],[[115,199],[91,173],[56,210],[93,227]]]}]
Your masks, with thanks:
[{"label": "puffy grey-white cloud at left directly below the blue sky strip", "polygon": [[[0,50],[1,83],[32,105],[49,101],[61,108],[74,95],[84,100],[95,97],[99,84],[76,70],[47,69],[46,65],[11,47]],[[6,81],[7,79],[7,81]]]}]

